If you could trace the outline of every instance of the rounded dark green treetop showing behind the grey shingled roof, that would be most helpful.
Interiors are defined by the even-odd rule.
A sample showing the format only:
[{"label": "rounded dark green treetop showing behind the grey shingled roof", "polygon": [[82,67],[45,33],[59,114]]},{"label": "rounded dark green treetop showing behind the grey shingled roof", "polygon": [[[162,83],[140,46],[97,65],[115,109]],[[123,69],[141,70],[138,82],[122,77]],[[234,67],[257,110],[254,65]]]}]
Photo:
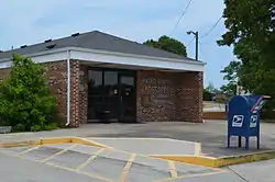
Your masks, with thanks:
[{"label": "rounded dark green treetop showing behind the grey shingled roof", "polygon": [[187,56],[186,46],[177,39],[170,38],[166,35],[161,36],[157,41],[148,39],[143,44],[160,48],[166,52],[170,52],[180,56]]}]

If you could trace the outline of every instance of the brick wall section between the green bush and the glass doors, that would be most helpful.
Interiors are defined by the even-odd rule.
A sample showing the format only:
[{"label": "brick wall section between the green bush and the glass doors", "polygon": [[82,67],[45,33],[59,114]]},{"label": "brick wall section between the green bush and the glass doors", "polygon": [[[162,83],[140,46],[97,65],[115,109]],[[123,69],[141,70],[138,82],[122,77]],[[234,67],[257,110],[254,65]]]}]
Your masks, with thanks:
[{"label": "brick wall section between the green bush and the glass doors", "polygon": [[[67,61],[45,64],[47,76],[54,84],[51,90],[57,96],[58,110],[67,115]],[[87,67],[79,60],[70,60],[70,126],[87,123]],[[57,91],[57,92],[56,92]]]}]

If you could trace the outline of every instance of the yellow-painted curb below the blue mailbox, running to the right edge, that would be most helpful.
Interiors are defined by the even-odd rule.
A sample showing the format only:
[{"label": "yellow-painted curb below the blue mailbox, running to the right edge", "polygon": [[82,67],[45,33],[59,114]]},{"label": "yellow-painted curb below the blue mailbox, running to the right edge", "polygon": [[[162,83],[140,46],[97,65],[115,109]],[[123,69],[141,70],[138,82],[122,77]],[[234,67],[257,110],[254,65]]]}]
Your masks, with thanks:
[{"label": "yellow-painted curb below the blue mailbox, running to the right edge", "polygon": [[172,160],[176,162],[186,162],[210,168],[221,168],[231,164],[249,163],[275,158],[275,150],[244,153],[237,156],[223,156],[220,158],[204,156],[175,156],[175,155],[151,155],[150,157]]}]

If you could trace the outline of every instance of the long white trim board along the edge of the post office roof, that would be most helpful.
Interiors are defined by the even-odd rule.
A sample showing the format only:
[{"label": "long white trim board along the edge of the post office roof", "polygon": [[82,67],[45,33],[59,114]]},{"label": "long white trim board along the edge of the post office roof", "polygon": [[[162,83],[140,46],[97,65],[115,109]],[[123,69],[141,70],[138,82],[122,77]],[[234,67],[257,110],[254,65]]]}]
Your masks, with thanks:
[{"label": "long white trim board along the edge of the post office roof", "polygon": [[[50,62],[67,59],[68,50],[70,52],[70,59],[85,60],[90,62],[106,62],[118,66],[138,66],[152,69],[172,69],[178,71],[204,71],[206,65],[205,62],[189,59],[158,58],[152,56],[103,52],[78,47],[66,47],[22,56],[30,57],[33,61],[38,64]],[[9,58],[0,59],[0,68],[8,68],[10,66],[11,60]]]}]

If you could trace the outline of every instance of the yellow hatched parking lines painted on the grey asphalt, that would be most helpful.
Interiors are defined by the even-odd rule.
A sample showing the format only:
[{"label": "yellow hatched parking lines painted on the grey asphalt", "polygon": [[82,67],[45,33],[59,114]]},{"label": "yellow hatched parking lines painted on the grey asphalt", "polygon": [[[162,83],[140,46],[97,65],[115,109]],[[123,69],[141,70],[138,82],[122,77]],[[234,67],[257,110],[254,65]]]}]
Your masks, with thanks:
[{"label": "yellow hatched parking lines painted on the grey asphalt", "polygon": [[[32,160],[32,159],[24,158],[24,156],[23,156],[24,153],[31,152],[31,151],[33,151],[33,150],[42,147],[42,146],[34,146],[34,147],[31,147],[31,148],[23,148],[21,151],[19,151],[15,155],[11,155],[9,152],[7,153],[7,151],[3,151],[3,150],[1,151],[1,148],[0,148],[0,152],[6,153],[8,156],[13,156],[13,157],[18,157],[18,158],[22,158],[22,159],[35,161],[35,162],[42,162],[42,163],[51,166],[51,167],[55,167],[55,168],[59,168],[59,169],[73,171],[73,172],[76,172],[76,173],[79,173],[79,174],[88,175],[88,177],[94,178],[94,179],[96,178],[98,180],[102,180],[105,182],[112,182],[113,181],[112,179],[108,179],[108,178],[102,177],[100,174],[97,174],[97,173],[94,174],[94,173],[89,173],[89,172],[86,172],[86,171],[81,171],[85,167],[87,167],[89,164],[89,162],[92,162],[92,160],[95,160],[99,156],[99,153],[101,153],[102,151],[105,151],[107,149],[101,148],[101,149],[96,150],[96,151],[94,150],[94,152],[90,152],[90,155],[88,156],[89,158],[86,157],[84,159],[84,161],[85,160],[86,161],[85,162],[81,161],[82,163],[80,163],[77,168],[75,168],[75,167],[68,168],[68,167],[56,164],[56,163],[53,163],[52,161],[50,161],[51,159],[54,159],[58,155],[62,155],[62,153],[64,153],[64,152],[66,152],[66,151],[68,151],[70,149],[73,149],[78,144],[70,145],[67,148],[64,148],[64,149],[58,150],[58,151],[55,151],[56,153],[52,152],[52,156],[48,156],[48,157],[46,156],[46,158],[43,159],[43,160]],[[88,153],[89,152],[87,152],[87,155]],[[134,163],[134,160],[138,160],[138,159],[135,159],[136,156],[142,156],[142,157],[151,158],[151,157],[147,157],[147,156],[144,156],[144,155],[136,155],[136,153],[131,153],[131,152],[127,152],[127,153],[130,153],[130,157],[128,158],[127,163],[124,164],[124,168],[121,166],[121,168],[123,168],[122,171],[121,171],[121,169],[119,170],[119,171],[121,171],[120,178],[119,178],[119,182],[127,182],[128,181],[128,175],[129,175],[130,169],[131,169],[132,164]],[[161,160],[163,160],[163,159],[161,159]],[[205,173],[202,173],[202,172],[201,173],[188,173],[188,174],[184,174],[183,173],[184,175],[183,174],[180,175],[179,171],[177,171],[177,168],[179,168],[179,167],[176,166],[177,164],[176,162],[166,160],[166,163],[164,163],[164,166],[165,164],[166,164],[166,168],[168,166],[170,178],[168,178],[168,175],[166,175],[166,177],[163,177],[163,179],[158,180],[157,182],[170,182],[170,181],[173,182],[173,180],[178,180],[178,179],[179,180],[180,179],[183,179],[183,180],[187,179],[188,180],[189,178],[205,177],[205,175],[215,175],[215,174],[219,174],[219,173],[223,173],[223,172],[229,172],[226,169],[208,168],[208,169],[212,169],[215,171],[212,171],[212,172],[205,171]],[[189,163],[185,163],[185,164],[195,166],[195,164],[189,164]],[[119,174],[119,171],[118,171],[118,174]],[[166,172],[167,172],[167,170],[166,170]]]}]

